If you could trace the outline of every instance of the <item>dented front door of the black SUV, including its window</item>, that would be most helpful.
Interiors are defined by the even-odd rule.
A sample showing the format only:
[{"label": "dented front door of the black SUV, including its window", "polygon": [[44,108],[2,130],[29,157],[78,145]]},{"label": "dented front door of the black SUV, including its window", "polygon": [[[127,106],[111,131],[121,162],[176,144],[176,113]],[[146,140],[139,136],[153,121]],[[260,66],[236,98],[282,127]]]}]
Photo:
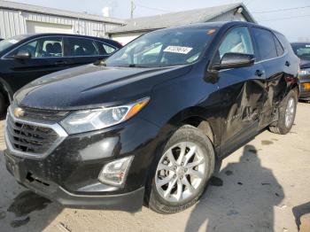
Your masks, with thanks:
[{"label": "dented front door of the black SUV, including its window", "polygon": [[[220,60],[225,53],[254,54],[248,27],[229,30],[217,52]],[[215,61],[217,62],[216,58]],[[260,63],[252,66],[221,70],[219,88],[222,99],[221,154],[227,155],[258,131],[260,112],[266,95],[264,69]]]}]

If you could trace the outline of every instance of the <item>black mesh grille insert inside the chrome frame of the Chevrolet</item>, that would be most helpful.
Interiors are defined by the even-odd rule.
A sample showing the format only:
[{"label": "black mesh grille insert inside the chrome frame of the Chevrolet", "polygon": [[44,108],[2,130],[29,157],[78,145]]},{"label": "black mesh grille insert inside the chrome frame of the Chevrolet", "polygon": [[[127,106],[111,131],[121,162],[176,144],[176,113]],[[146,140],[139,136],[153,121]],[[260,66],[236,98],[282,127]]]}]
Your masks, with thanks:
[{"label": "black mesh grille insert inside the chrome frame of the Chevrolet", "polygon": [[41,154],[50,149],[58,139],[58,134],[51,128],[43,128],[7,119],[7,135],[17,151]]}]

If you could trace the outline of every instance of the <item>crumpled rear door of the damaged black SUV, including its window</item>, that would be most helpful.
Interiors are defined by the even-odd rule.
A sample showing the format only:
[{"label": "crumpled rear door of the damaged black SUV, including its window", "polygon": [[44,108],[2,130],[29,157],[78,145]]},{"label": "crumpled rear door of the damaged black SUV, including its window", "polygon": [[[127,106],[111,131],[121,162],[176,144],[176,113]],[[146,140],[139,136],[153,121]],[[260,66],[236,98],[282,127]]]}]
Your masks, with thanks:
[{"label": "crumpled rear door of the damaged black SUV, including its window", "polygon": [[260,128],[265,128],[274,118],[276,109],[285,96],[285,73],[291,63],[287,59],[287,52],[284,52],[282,44],[271,31],[252,27],[252,34],[259,53],[258,61],[263,66],[267,79],[267,95],[260,119]]}]

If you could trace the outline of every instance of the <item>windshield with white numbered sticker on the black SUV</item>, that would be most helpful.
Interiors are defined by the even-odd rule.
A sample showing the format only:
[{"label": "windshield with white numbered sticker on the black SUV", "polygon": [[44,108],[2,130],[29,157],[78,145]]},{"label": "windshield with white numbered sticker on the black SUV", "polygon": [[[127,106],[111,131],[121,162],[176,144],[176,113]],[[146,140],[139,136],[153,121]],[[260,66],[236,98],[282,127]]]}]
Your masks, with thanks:
[{"label": "windshield with white numbered sticker on the black SUV", "polygon": [[214,28],[174,28],[143,35],[105,61],[106,66],[178,66],[198,60]]}]

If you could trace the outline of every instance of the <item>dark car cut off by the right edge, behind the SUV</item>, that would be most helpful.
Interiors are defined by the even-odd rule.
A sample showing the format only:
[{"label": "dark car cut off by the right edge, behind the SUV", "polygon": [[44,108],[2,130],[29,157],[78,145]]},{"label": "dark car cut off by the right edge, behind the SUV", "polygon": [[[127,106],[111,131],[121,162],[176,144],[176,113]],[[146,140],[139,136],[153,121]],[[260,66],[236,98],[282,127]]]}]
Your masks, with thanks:
[{"label": "dark car cut off by the right edge, behind the SUV", "polygon": [[295,54],[300,58],[300,96],[310,103],[310,43],[291,43]]}]

